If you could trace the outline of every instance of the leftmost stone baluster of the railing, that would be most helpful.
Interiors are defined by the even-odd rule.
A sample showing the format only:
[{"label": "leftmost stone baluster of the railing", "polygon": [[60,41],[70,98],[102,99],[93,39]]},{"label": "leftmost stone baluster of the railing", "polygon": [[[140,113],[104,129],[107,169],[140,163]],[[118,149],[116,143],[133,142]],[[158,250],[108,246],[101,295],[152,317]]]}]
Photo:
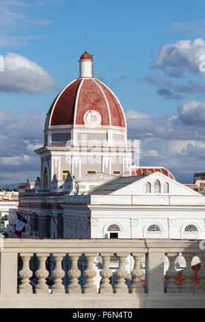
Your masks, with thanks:
[{"label": "leftmost stone baluster of the railing", "polygon": [[29,284],[30,280],[29,277],[33,275],[33,272],[29,268],[29,261],[33,253],[20,253],[20,257],[23,260],[23,267],[19,272],[19,276],[22,277],[22,281],[19,286],[19,293],[20,294],[31,294],[32,293],[32,286]]}]

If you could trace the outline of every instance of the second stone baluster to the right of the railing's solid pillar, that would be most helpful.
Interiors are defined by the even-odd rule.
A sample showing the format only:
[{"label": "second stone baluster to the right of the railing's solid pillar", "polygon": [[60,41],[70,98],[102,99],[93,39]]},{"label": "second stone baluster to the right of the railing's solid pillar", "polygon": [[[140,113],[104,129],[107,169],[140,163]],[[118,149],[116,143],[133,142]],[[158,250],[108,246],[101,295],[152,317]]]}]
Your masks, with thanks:
[{"label": "second stone baluster to the right of the railing's solid pillar", "polygon": [[182,253],[182,256],[184,256],[186,260],[186,268],[183,271],[183,276],[185,277],[185,283],[182,289],[183,293],[193,293],[193,284],[191,277],[193,277],[194,272],[191,269],[191,260],[194,256],[193,253]]}]

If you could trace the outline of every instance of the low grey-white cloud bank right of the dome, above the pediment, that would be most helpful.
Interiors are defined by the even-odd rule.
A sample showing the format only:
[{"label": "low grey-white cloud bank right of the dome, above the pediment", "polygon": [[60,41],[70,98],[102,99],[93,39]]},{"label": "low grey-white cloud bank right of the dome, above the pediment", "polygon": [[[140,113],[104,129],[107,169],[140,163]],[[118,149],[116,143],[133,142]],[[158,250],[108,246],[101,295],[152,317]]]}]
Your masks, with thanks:
[{"label": "low grey-white cloud bank right of the dome, above the pediment", "polygon": [[180,182],[191,183],[193,173],[204,171],[204,106],[202,101],[188,101],[178,114],[143,118],[129,110],[128,138],[140,139],[140,165],[165,166]]}]

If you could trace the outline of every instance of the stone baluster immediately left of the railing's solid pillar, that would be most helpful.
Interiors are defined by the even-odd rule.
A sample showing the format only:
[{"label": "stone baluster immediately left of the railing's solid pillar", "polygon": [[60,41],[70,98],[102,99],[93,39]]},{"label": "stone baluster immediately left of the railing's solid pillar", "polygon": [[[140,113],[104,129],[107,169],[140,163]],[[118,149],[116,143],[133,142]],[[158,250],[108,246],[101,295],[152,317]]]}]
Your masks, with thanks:
[{"label": "stone baluster immediately left of the railing's solid pillar", "polygon": [[143,276],[143,271],[141,271],[141,258],[143,256],[142,253],[133,253],[133,258],[135,260],[135,264],[133,267],[133,271],[131,271],[131,275],[133,277],[131,284],[131,293],[142,293],[143,286],[141,284],[141,277]]}]

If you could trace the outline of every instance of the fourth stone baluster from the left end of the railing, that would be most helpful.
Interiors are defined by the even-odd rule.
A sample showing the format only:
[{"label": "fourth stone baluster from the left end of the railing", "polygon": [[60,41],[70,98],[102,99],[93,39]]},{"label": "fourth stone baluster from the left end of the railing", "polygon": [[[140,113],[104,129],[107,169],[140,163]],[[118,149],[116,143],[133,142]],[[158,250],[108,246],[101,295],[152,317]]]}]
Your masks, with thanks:
[{"label": "fourth stone baluster from the left end of the railing", "polygon": [[81,253],[69,253],[69,257],[72,262],[72,267],[68,271],[68,276],[71,279],[70,285],[68,285],[68,293],[70,294],[81,293],[81,286],[78,281],[78,278],[81,276],[81,271],[78,269],[79,256],[81,256]]}]

